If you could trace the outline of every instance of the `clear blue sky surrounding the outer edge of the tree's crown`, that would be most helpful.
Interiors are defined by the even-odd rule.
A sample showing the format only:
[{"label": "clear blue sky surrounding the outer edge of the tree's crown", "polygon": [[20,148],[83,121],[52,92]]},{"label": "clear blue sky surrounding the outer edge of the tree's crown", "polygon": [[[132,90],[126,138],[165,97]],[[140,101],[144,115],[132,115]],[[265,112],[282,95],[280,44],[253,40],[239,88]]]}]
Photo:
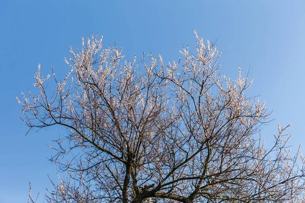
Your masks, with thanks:
[{"label": "clear blue sky surrounding the outer edge of the tree's crown", "polygon": [[[271,142],[277,124],[292,126],[292,151],[304,147],[305,2],[284,1],[0,1],[0,203],[26,202],[32,194],[52,189],[47,174],[56,179],[48,161],[54,152],[49,140],[65,130],[28,130],[19,119],[15,97],[34,89],[34,73],[65,74],[70,46],[92,32],[104,45],[116,42],[127,59],[134,54],[161,54],[163,61],[180,57],[182,44],[195,46],[195,29],[222,51],[221,72],[237,78],[238,64],[254,78],[247,95],[266,101],[271,122],[262,137]],[[268,146],[266,146],[268,147]],[[60,174],[59,174],[60,175]]]}]

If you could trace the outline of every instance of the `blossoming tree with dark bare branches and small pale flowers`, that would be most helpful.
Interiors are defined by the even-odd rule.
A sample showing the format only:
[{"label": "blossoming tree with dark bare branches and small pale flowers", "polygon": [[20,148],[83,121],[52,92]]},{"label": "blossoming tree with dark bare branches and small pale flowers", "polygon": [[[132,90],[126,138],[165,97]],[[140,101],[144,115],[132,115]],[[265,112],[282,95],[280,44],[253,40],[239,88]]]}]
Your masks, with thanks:
[{"label": "blossoming tree with dark bare branches and small pale flowers", "polygon": [[70,71],[62,82],[52,68],[54,92],[38,66],[38,95],[17,98],[22,119],[29,129],[67,129],[51,160],[69,178],[58,176],[47,202],[305,200],[304,158],[300,150],[289,155],[288,126],[279,125],[266,149],[259,131],[269,113],[246,96],[252,81],[240,69],[235,81],[220,74],[215,44],[194,33],[197,54],[183,47],[182,59],[166,65],[152,54],[121,62],[116,45],[82,39],[64,58]]}]

